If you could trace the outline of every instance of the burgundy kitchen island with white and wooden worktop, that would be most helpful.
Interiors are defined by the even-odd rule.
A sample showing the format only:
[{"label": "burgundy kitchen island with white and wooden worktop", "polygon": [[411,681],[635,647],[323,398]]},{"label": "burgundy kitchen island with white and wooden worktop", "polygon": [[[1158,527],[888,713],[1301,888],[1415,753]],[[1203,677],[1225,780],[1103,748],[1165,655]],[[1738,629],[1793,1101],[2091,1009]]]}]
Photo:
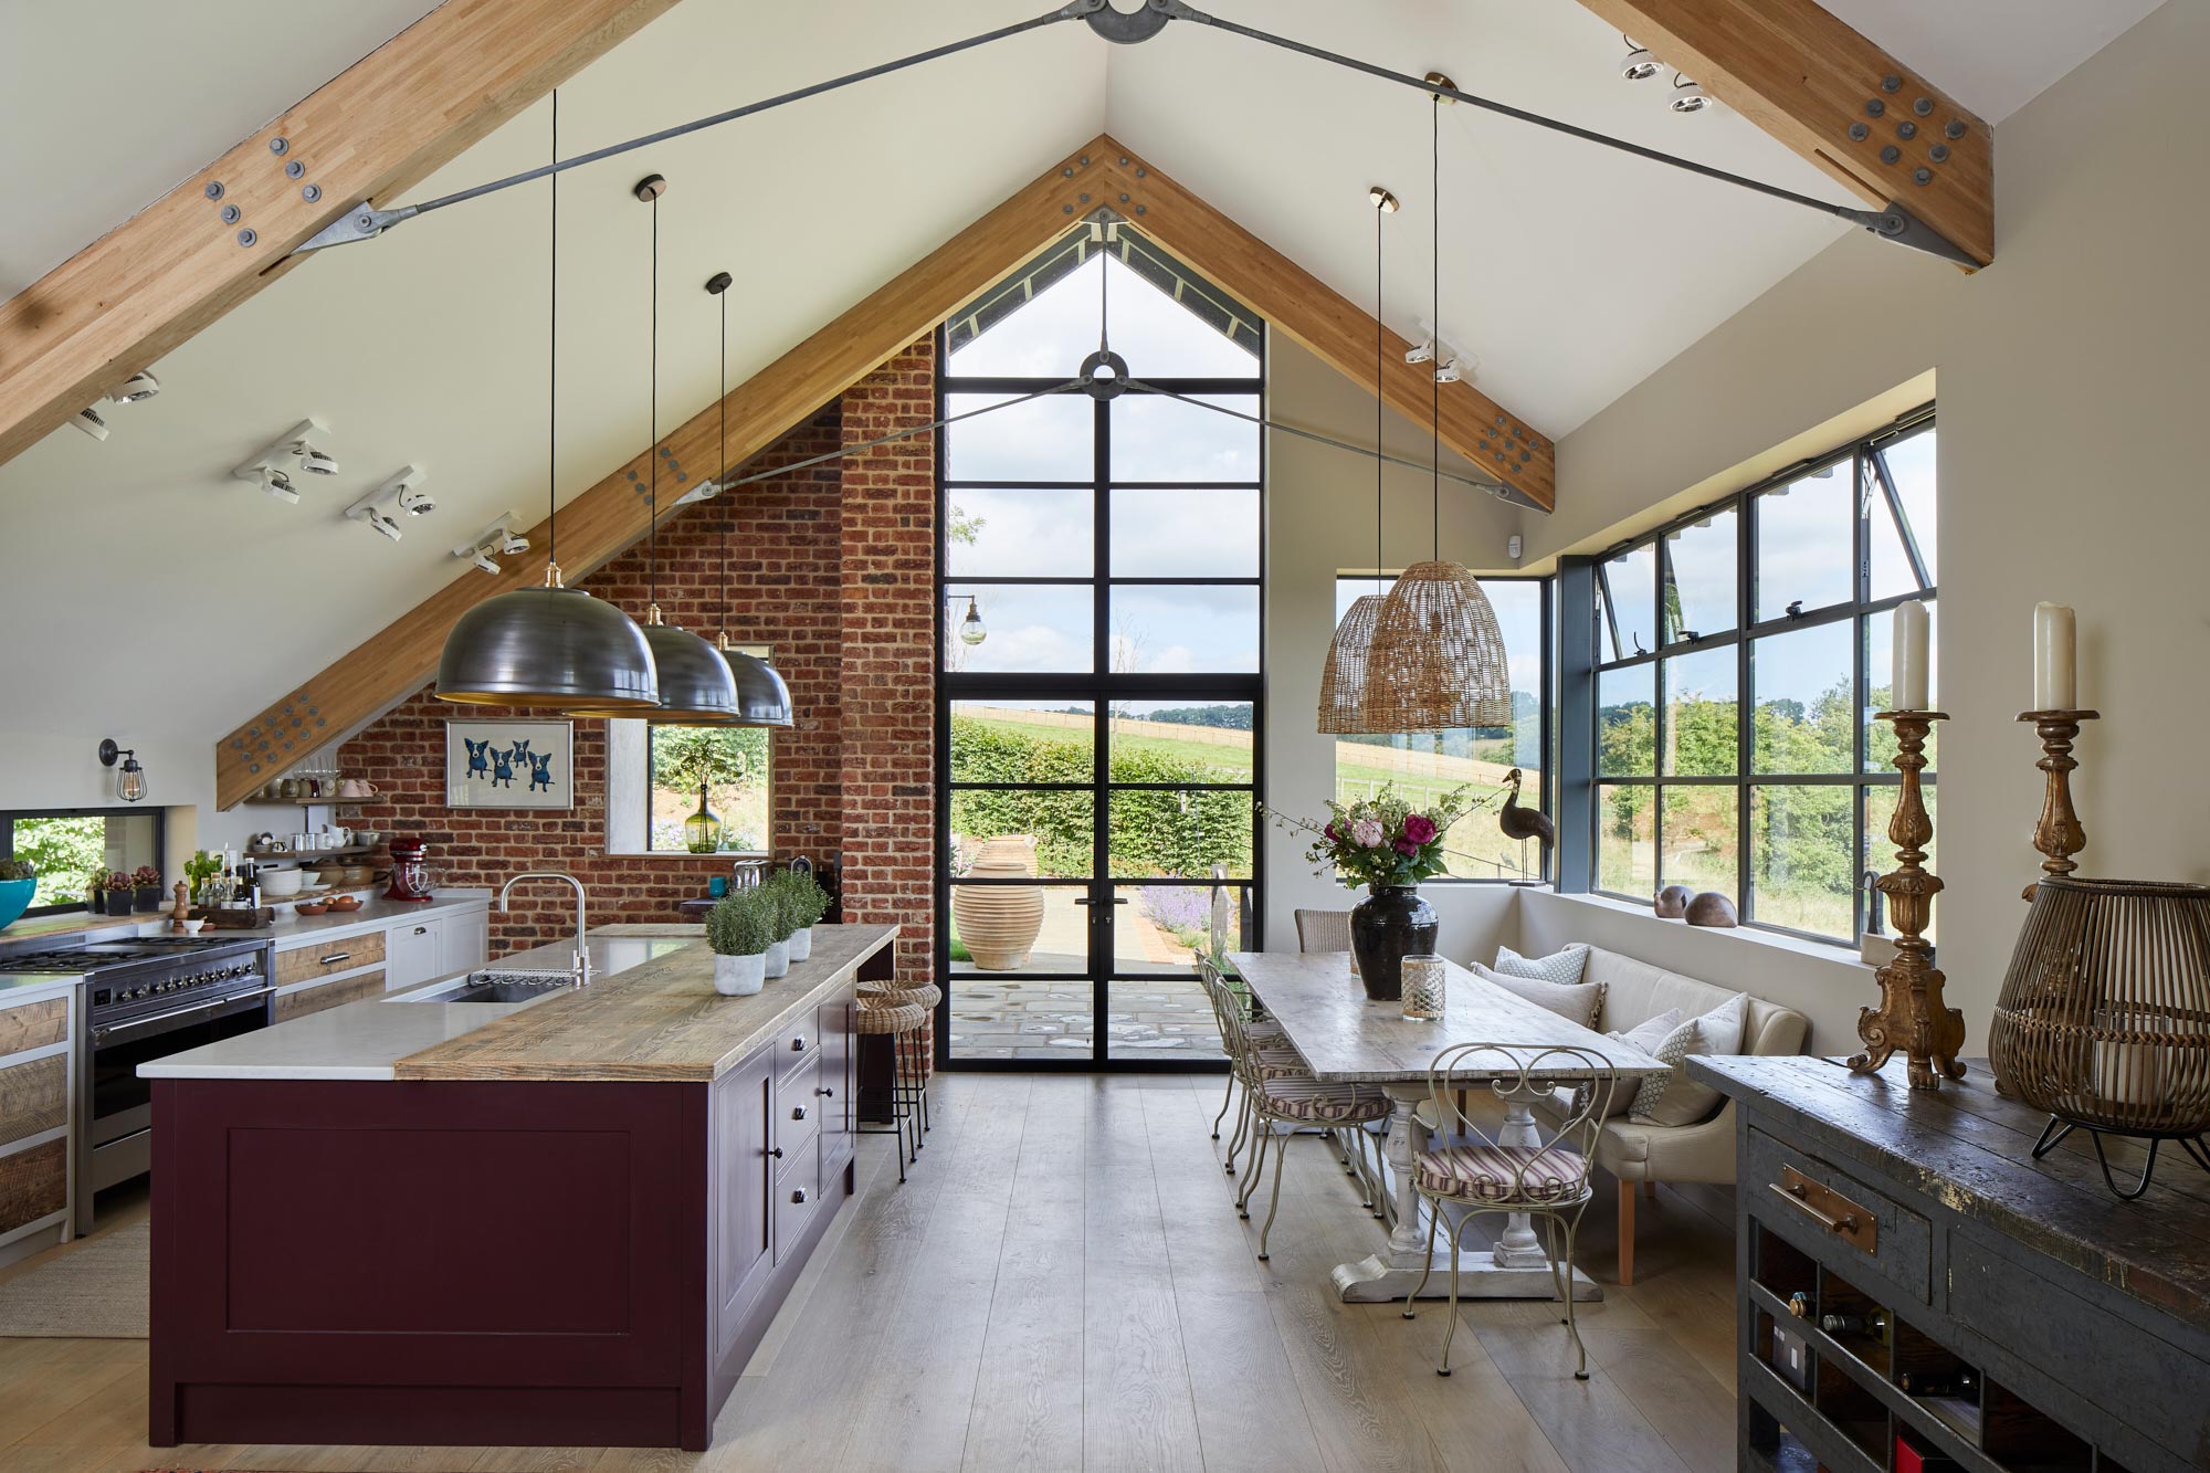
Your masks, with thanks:
[{"label": "burgundy kitchen island with white and wooden worktop", "polygon": [[754,997],[659,942],[148,1066],[148,1440],[705,1449],[853,1192],[851,1006],[895,936],[815,927]]}]

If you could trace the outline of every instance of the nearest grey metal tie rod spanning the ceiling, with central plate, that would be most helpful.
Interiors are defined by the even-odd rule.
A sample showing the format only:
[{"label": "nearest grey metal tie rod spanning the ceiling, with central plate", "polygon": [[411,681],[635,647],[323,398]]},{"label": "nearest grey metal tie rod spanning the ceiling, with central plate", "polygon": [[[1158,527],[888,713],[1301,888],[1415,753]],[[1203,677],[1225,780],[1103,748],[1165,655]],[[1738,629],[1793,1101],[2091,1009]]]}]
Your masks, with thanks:
[{"label": "nearest grey metal tie rod spanning the ceiling, with central plate", "polygon": [[[508,175],[504,179],[491,179],[488,184],[477,184],[453,195],[440,195],[438,199],[424,199],[422,203],[398,206],[391,210],[378,210],[369,201],[356,203],[351,210],[332,221],[320,234],[303,243],[298,250],[325,250],[329,245],[351,245],[356,241],[369,241],[385,230],[400,226],[418,215],[429,215],[433,210],[444,210],[446,206],[466,203],[469,199],[482,199],[484,195],[495,195],[499,190],[515,188],[517,184],[530,184],[548,175],[559,175],[570,168],[581,168],[583,164],[597,164],[599,159],[612,159],[623,153],[634,153],[639,148],[650,148],[652,144],[665,144],[667,139],[685,137],[703,128],[718,128],[720,124],[736,122],[738,117],[751,117],[756,113],[767,113],[780,108],[789,102],[804,102],[807,97],[820,97],[824,93],[853,86],[855,82],[869,82],[873,77],[884,77],[908,66],[919,66],[922,62],[935,62],[946,55],[959,55],[961,51],[975,51],[977,46],[988,46],[990,42],[1008,40],[1012,35],[1023,35],[1028,31],[1041,31],[1043,27],[1059,24],[1063,20],[1083,20],[1101,38],[1114,44],[1132,46],[1151,40],[1167,29],[1169,20],[1187,20],[1191,24],[1211,27],[1216,31],[1227,31],[1229,35],[1242,35],[1244,40],[1255,40],[1266,46],[1277,46],[1282,51],[1295,51],[1297,55],[1308,55],[1317,62],[1333,62],[1335,66],[1346,66],[1350,71],[1361,71],[1370,77],[1383,82],[1397,82],[1399,86],[1410,86],[1448,102],[1465,102],[1498,117],[1512,117],[1536,128],[1547,128],[1551,133],[1562,133],[1576,137],[1585,144],[1598,144],[1600,148],[1613,148],[1618,153],[1629,153],[1638,159],[1649,159],[1651,164],[1664,164],[1669,168],[1680,168],[1704,179],[1715,179],[1719,184],[1733,184],[1735,188],[1753,190],[1766,195],[1768,199],[1779,199],[1806,210],[1817,210],[1834,219],[1861,226],[1883,241],[1894,241],[1898,245],[1909,245],[1912,250],[1923,250],[1936,254],[1945,261],[1956,261],[1965,268],[1978,270],[1967,252],[1951,245],[1923,219],[1905,210],[1896,201],[1887,201],[1878,210],[1861,210],[1856,206],[1841,206],[1828,199],[1814,199],[1810,195],[1799,195],[1786,190],[1777,184],[1764,184],[1761,179],[1748,179],[1744,175],[1728,173],[1724,168],[1713,168],[1708,164],[1697,164],[1695,159],[1684,159],[1658,148],[1644,148],[1642,144],[1629,144],[1622,137],[1611,137],[1609,133],[1596,133],[1593,128],[1582,128],[1556,117],[1545,117],[1543,113],[1529,113],[1527,108],[1516,108],[1494,97],[1481,97],[1476,93],[1461,91],[1448,80],[1414,77],[1412,73],[1390,71],[1375,62],[1361,62],[1339,51],[1328,51],[1324,46],[1313,46],[1299,40],[1288,40],[1286,35],[1275,35],[1271,31],[1260,31],[1257,27],[1244,27],[1233,20],[1220,20],[1207,11],[1185,4],[1185,0],[1145,0],[1140,11],[1118,11],[1109,0],[1067,0],[1054,11],[1041,15],[1030,15],[1028,20],[1017,20],[1008,27],[994,31],[983,31],[981,35],[970,35],[959,42],[948,42],[944,46],[930,46],[928,51],[915,51],[913,55],[897,58],[893,62],[880,62],[875,66],[864,66],[860,71],[844,73],[842,77],[829,77],[827,82],[813,82],[811,86],[800,86],[776,97],[762,97],[760,102],[747,102],[745,106],[729,108],[725,113],[714,113],[709,117],[698,117],[687,124],[676,124],[674,128],[661,128],[659,133],[645,133],[643,137],[632,137],[621,144],[608,144],[606,148],[594,148],[590,153],[579,153],[572,159],[555,159],[539,168],[524,170],[519,175]],[[294,252],[296,254],[296,252]]]}]

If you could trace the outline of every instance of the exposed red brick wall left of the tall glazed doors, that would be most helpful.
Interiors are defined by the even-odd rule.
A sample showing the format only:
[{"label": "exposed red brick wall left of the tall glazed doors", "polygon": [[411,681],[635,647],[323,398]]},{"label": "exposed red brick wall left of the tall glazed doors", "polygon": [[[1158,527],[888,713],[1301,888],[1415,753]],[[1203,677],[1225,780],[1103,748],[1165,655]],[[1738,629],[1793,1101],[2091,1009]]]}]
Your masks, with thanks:
[{"label": "exposed red brick wall left of the tall glazed doors", "polygon": [[[930,343],[922,341],[791,431],[754,469],[882,436],[884,425],[928,422],[933,372]],[[827,462],[685,509],[681,520],[663,522],[659,549],[665,619],[712,637],[723,626],[727,529],[729,637],[774,646],[798,712],[796,728],[771,736],[776,858],[846,852],[846,916],[906,924],[899,975],[908,978],[928,975],[933,907],[933,469],[930,442],[917,436],[895,451]],[[641,615],[645,584],[639,544],[579,586]],[[427,840],[442,882],[495,887],[524,867],[568,869],[590,889],[594,922],[676,920],[676,902],[705,894],[707,876],[725,871],[727,860],[712,856],[606,854],[603,721],[575,723],[570,812],[449,809],[444,723],[457,714],[546,712],[462,712],[424,688],[340,752],[347,772],[382,792],[360,807],[360,821]],[[493,953],[555,940],[570,918],[557,887],[517,891],[511,916],[491,916]]]}]

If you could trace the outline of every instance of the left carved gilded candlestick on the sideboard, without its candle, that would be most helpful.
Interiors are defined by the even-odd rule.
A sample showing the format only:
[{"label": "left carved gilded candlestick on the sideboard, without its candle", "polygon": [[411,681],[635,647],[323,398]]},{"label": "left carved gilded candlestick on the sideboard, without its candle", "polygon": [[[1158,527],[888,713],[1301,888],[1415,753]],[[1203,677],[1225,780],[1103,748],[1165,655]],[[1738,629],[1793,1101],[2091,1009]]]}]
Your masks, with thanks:
[{"label": "left carved gilded candlestick on the sideboard, without its candle", "polygon": [[1934,918],[1934,896],[1940,876],[1925,867],[1927,843],[1934,838],[1934,816],[1927,814],[1918,774],[1925,772],[1927,734],[1949,717],[1938,710],[1883,710],[1876,721],[1896,728],[1896,772],[1903,792],[1896,814],[1887,821],[1887,838],[1896,845],[1896,869],[1878,878],[1887,896],[1887,916],[1896,927],[1896,960],[1881,967],[1881,1006],[1856,1015],[1856,1037],[1865,1051],[1850,1059],[1854,1073],[1872,1073],[1901,1048],[1909,1059],[1914,1090],[1940,1088],[1940,1077],[1965,1077],[1958,1055],[1965,1051],[1965,1015],[1943,1002],[1943,975],[1934,967],[1934,944],[1925,940]]}]

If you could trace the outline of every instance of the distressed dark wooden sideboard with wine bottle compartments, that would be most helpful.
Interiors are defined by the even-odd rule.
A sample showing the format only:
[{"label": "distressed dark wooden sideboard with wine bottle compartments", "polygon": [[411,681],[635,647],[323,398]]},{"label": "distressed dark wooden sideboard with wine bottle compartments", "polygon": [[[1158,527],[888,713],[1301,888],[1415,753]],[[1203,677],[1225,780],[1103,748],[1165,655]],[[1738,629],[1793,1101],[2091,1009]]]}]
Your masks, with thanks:
[{"label": "distressed dark wooden sideboard with wine bottle compartments", "polygon": [[[2046,1117],[1985,1059],[1938,1093],[1901,1059],[1691,1068],[1741,1104],[1741,1469],[2210,1469],[2210,1174],[2186,1155],[2117,1201],[2086,1132],[2033,1159]],[[2139,1157],[2113,1143],[2122,1179]]]}]

